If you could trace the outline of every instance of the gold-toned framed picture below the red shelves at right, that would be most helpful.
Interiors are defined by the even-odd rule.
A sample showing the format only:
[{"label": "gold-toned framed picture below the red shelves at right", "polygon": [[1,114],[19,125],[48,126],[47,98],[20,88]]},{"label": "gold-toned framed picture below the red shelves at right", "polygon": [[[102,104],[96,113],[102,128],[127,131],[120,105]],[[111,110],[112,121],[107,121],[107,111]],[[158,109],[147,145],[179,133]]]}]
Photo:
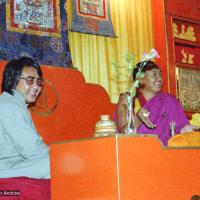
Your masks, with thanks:
[{"label": "gold-toned framed picture below the red shelves at right", "polygon": [[177,67],[178,98],[187,112],[200,112],[200,70]]}]

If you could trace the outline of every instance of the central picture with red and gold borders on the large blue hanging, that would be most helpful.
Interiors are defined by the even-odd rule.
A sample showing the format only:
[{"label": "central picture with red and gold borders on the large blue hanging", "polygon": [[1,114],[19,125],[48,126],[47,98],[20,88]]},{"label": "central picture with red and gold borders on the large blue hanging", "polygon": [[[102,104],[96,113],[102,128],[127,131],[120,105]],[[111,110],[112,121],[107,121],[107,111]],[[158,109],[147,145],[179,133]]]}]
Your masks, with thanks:
[{"label": "central picture with red and gold borders on the large blue hanging", "polygon": [[6,4],[8,31],[61,37],[59,0],[10,0]]}]

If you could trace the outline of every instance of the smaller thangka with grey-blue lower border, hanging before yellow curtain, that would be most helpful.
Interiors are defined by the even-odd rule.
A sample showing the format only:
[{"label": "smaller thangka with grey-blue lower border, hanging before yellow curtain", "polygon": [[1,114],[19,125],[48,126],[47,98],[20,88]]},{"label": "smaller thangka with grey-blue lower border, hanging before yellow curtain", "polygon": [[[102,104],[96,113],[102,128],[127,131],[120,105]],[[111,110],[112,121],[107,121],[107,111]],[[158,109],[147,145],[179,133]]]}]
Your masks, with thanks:
[{"label": "smaller thangka with grey-blue lower border, hanging before yellow curtain", "polygon": [[109,0],[73,0],[71,31],[115,37]]}]

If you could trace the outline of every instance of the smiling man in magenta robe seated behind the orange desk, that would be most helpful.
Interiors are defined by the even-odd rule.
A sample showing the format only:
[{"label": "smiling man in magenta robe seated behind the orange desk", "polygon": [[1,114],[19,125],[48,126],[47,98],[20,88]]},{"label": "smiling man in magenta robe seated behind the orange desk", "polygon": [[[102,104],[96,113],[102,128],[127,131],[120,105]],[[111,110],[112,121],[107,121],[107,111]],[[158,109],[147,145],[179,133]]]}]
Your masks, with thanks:
[{"label": "smiling man in magenta robe seated behind the orange desk", "polygon": [[[133,70],[133,80],[141,63]],[[144,77],[137,89],[134,99],[134,124],[139,134],[157,135],[164,145],[167,145],[173,133],[193,131],[179,101],[170,94],[162,92],[163,78],[160,68],[152,61],[147,61],[142,68]],[[119,132],[124,132],[127,126],[127,95],[121,94],[117,108],[117,125]],[[136,109],[137,107],[137,109]],[[196,127],[194,127],[196,128]],[[198,128],[198,127],[197,127]]]}]

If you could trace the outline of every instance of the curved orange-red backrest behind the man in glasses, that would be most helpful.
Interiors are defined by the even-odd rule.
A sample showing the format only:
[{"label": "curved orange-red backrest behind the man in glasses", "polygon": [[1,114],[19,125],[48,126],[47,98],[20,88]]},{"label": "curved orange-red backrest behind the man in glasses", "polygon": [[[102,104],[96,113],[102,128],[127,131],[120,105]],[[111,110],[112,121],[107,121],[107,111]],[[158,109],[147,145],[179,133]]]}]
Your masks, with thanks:
[{"label": "curved orange-red backrest behind the man in glasses", "polygon": [[[5,64],[0,61],[1,74]],[[42,71],[45,84],[30,111],[46,143],[91,137],[100,115],[109,114],[113,119],[115,104],[110,103],[105,89],[86,83],[81,72],[49,66],[42,66]]]}]

